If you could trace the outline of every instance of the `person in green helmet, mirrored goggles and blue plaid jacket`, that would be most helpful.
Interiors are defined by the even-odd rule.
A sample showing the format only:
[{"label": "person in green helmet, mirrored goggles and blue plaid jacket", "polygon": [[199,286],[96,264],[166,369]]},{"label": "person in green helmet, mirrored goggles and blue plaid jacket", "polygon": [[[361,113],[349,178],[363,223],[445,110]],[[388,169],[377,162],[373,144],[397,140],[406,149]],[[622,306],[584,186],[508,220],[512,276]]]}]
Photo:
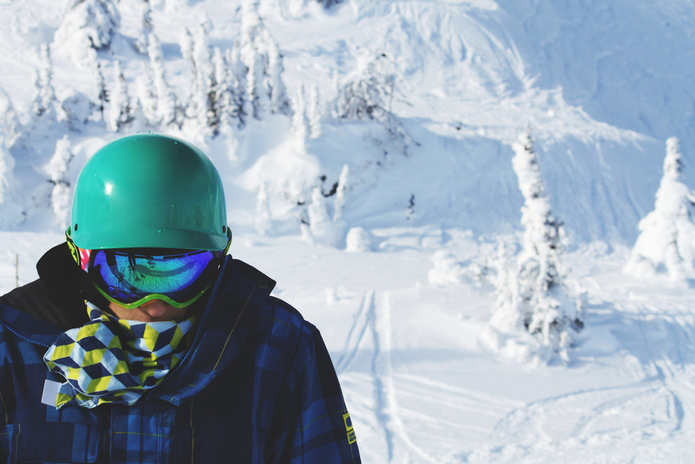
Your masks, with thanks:
[{"label": "person in green helmet, mirrored goggles and blue plaid jacket", "polygon": [[359,463],[320,333],[230,243],[193,145],[95,153],[65,243],[0,297],[0,461]]}]

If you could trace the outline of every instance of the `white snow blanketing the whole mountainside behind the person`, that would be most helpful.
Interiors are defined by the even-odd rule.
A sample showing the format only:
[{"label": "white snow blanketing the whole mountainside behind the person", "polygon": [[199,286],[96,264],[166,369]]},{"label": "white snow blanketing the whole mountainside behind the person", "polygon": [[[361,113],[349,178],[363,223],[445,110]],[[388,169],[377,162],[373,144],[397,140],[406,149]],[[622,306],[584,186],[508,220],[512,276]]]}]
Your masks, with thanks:
[{"label": "white snow blanketing the whole mountainside behind the person", "polygon": [[[72,108],[72,129],[33,117],[42,46],[80,24],[68,3],[0,1],[0,293],[36,278],[35,262],[64,239],[65,189],[121,135],[90,113],[99,88],[85,56],[96,54],[112,89],[120,61],[131,98],[151,79],[150,58],[136,49],[141,2],[106,2],[120,26],[101,8],[104,29],[90,33],[108,35],[108,47],[71,45],[80,33],[51,45],[51,83]],[[692,198],[695,4],[158,0],[149,85],[170,104],[186,102],[195,84],[184,31],[209,22],[210,46],[232,49],[243,22],[258,26],[243,3],[258,3],[263,47],[281,52],[273,79],[284,69],[286,95],[306,89],[306,134],[270,113],[270,100],[263,120],[217,138],[193,125],[167,131],[218,166],[231,254],[277,280],[274,294],[320,329],[363,462],[689,462],[692,280],[623,267],[640,221],[660,202],[682,212]],[[360,82],[393,84],[376,95],[382,113],[335,118],[336,88]],[[541,359],[534,337],[490,324],[496,286],[514,272],[500,263],[521,250],[512,143],[527,126],[567,234],[564,284],[584,292],[584,328],[565,360]],[[680,139],[685,175],[662,180],[670,137]],[[689,216],[678,221],[691,237]],[[641,249],[671,233],[661,224]],[[658,246],[661,259],[669,252]],[[695,253],[683,246],[688,277]]]}]

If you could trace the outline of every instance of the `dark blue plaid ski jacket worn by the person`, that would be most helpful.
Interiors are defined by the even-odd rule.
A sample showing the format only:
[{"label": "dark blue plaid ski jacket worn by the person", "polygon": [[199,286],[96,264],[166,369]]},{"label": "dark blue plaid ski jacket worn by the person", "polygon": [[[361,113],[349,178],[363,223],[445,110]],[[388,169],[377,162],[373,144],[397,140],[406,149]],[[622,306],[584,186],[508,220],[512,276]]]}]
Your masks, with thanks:
[{"label": "dark blue plaid ski jacket worn by the person", "polygon": [[41,403],[60,330],[0,305],[0,462],[360,463],[318,330],[227,258],[193,345],[133,406]]}]

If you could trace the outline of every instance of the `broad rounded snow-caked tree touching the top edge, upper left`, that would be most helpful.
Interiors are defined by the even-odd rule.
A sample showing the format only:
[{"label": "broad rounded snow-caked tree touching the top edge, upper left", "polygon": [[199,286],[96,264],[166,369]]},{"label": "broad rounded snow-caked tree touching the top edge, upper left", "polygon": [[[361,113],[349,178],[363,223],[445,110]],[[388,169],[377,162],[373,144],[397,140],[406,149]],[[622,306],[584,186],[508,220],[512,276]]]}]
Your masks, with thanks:
[{"label": "broad rounded snow-caked tree touching the top edge, upper left", "polygon": [[111,0],[70,0],[54,35],[58,47],[70,50],[73,61],[89,66],[96,51],[111,45],[120,27],[120,15]]}]

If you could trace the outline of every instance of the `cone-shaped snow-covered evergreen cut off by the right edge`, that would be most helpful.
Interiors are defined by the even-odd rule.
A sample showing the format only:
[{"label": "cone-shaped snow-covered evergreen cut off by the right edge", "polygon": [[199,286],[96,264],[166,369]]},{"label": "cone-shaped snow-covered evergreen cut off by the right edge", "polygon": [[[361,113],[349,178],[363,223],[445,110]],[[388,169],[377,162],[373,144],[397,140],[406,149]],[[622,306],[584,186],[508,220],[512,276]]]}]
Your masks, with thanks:
[{"label": "cone-shaped snow-covered evergreen cut off by the right edge", "polygon": [[638,277],[661,273],[682,281],[694,270],[695,195],[682,182],[680,141],[671,137],[666,147],[654,210],[639,221],[640,234],[624,271]]}]

